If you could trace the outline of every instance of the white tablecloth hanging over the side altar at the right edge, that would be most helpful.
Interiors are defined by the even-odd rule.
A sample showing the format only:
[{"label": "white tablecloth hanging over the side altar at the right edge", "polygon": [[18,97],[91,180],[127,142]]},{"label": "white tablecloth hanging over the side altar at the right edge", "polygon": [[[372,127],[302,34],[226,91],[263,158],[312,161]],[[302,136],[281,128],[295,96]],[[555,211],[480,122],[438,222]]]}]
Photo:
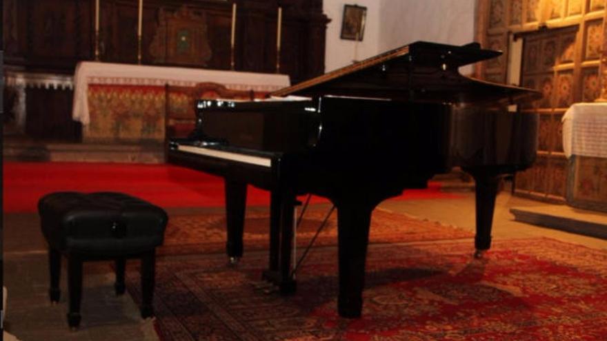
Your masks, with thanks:
[{"label": "white tablecloth hanging over the side altar at the right edge", "polygon": [[607,103],[575,103],[564,114],[565,155],[607,158]]}]

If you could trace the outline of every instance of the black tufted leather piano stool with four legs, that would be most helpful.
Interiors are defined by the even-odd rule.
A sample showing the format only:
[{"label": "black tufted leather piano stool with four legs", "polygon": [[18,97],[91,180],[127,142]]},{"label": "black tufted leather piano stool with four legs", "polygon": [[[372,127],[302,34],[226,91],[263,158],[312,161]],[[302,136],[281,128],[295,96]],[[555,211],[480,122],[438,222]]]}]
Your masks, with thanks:
[{"label": "black tufted leather piano stool with four legs", "polygon": [[68,258],[68,324],[80,324],[82,262],[116,262],[117,295],[124,293],[127,258],[141,258],[141,317],[153,315],[155,248],[162,244],[168,217],[146,201],[116,192],[56,192],[38,202],[41,227],[49,245],[51,302],[59,302],[61,254]]}]

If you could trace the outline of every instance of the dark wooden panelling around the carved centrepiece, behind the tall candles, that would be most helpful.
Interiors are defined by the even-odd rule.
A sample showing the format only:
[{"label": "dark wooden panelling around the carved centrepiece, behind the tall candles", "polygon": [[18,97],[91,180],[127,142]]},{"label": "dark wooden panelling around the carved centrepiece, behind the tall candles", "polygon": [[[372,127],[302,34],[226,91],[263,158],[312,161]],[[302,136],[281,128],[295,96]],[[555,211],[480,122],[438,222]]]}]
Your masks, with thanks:
[{"label": "dark wooden panelling around the carved centrepiece, behind the tall candles", "polygon": [[[324,72],[328,19],[322,0],[235,0],[235,70],[275,72],[277,8],[283,8],[281,73],[292,83]],[[29,71],[71,74],[78,61],[94,59],[94,0],[4,0],[6,64]],[[137,0],[102,0],[101,61],[137,63]],[[161,10],[182,6],[206,18],[210,60],[159,61],[155,39]],[[230,69],[232,1],[144,0],[141,63]],[[157,41],[156,41],[157,43]],[[170,48],[170,46],[166,46]],[[158,47],[156,46],[156,50]]]}]

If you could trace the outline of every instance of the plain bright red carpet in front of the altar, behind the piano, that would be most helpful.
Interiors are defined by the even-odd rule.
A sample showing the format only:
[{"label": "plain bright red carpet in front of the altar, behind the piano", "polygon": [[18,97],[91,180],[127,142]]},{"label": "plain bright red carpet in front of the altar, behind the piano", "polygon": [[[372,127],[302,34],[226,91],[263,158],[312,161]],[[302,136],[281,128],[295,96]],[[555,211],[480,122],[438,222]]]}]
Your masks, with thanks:
[{"label": "plain bright red carpet in front of the altar, behind the piano", "polygon": [[[5,212],[36,211],[38,199],[56,191],[118,191],[161,207],[223,206],[223,180],[175,165],[132,163],[4,163]],[[411,189],[397,200],[451,198],[439,184]],[[325,201],[315,197],[312,203]],[[248,205],[268,205],[268,192],[250,187]]]}]

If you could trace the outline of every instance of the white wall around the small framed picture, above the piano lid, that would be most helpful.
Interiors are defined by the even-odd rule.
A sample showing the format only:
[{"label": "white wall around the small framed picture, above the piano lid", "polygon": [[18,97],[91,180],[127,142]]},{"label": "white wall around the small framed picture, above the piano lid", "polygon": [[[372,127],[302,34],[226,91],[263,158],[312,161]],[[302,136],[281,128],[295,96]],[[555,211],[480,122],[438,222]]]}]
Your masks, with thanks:
[{"label": "white wall around the small framed picture, above the piano lid", "polygon": [[[331,19],[326,35],[325,71],[365,59],[414,41],[462,45],[475,39],[477,0],[324,0],[324,12]],[[344,4],[365,6],[364,40],[339,39]],[[471,69],[469,69],[471,70]],[[468,68],[461,70],[466,74]]]}]

